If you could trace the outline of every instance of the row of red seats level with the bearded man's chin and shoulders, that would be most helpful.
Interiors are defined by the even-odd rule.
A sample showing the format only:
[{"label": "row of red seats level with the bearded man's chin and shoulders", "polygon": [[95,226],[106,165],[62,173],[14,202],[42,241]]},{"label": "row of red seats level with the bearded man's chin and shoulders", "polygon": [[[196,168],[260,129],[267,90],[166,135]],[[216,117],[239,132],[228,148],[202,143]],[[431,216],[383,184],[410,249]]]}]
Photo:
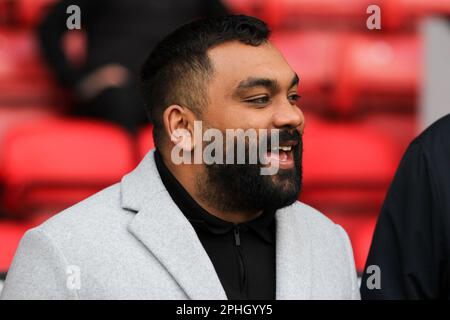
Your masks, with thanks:
[{"label": "row of red seats level with the bearded man's chin and shoulders", "polygon": [[[373,225],[399,161],[398,148],[361,123],[308,119],[301,200],[342,221],[356,243],[355,237]],[[5,131],[0,143],[2,209],[5,217],[27,223],[38,223],[118,182],[153,147],[151,127],[134,141],[109,123],[57,116],[22,121]],[[368,227],[360,230],[361,219]],[[366,251],[355,254],[361,269]]]}]

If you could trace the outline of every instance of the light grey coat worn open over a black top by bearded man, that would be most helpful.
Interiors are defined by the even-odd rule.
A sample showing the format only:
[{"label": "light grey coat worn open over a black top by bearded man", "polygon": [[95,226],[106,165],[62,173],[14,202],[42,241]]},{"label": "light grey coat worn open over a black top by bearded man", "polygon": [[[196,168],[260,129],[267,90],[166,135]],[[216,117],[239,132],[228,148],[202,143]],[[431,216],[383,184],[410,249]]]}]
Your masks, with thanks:
[{"label": "light grey coat worn open over a black top by bearded man", "polygon": [[[115,184],[28,231],[3,299],[226,299],[150,151]],[[276,298],[359,299],[343,229],[296,202],[276,213]]]}]

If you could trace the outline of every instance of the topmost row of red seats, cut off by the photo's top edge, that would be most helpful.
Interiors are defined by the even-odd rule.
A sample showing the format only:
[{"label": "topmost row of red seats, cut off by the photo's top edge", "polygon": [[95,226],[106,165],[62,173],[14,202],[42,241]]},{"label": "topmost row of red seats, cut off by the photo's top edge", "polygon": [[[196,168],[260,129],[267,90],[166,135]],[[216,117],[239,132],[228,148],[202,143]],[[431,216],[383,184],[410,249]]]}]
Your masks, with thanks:
[{"label": "topmost row of red seats, cut off by the photo's top edge", "polygon": [[[0,8],[3,8],[4,21],[34,28],[56,1],[0,0]],[[433,14],[450,14],[447,0],[225,0],[225,4],[233,12],[258,16],[277,29],[350,27],[364,30],[366,10],[373,4],[382,10],[384,30],[408,28],[418,19]]]}]

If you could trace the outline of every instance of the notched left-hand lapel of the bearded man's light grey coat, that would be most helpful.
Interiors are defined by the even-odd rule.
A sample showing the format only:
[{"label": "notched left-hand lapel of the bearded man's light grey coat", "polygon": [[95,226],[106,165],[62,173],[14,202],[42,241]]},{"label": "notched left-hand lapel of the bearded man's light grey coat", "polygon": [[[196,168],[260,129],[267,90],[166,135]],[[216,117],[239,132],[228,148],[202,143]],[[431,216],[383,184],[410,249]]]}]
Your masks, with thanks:
[{"label": "notched left-hand lapel of the bearded man's light grey coat", "polygon": [[150,151],[122,179],[122,207],[137,214],[128,230],[164,265],[190,299],[226,299],[195,230],[165,189]]}]

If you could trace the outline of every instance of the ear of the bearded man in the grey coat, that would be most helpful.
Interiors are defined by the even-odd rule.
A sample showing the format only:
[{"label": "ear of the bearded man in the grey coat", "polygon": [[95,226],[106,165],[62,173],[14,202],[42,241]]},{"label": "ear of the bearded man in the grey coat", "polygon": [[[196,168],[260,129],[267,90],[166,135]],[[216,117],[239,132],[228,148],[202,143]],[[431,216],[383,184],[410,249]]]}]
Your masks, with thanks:
[{"label": "ear of the bearded man in the grey coat", "polygon": [[183,106],[171,105],[163,112],[166,134],[174,145],[186,152],[194,150],[194,113]]}]

